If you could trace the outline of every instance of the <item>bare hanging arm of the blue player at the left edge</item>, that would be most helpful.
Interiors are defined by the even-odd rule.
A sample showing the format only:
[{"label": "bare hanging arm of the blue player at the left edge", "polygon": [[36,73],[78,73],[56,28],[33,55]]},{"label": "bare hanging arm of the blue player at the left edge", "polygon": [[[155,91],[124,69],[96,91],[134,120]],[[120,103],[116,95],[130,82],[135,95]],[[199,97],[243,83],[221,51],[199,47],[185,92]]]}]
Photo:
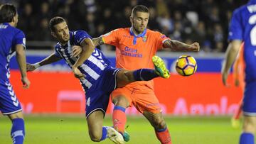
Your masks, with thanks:
[{"label": "bare hanging arm of the blue player at the left edge", "polygon": [[21,82],[23,83],[23,88],[28,89],[30,86],[30,82],[28,80],[27,74],[26,74],[26,55],[23,45],[18,44],[15,47],[16,51],[16,60],[18,62],[18,66],[21,72]]}]

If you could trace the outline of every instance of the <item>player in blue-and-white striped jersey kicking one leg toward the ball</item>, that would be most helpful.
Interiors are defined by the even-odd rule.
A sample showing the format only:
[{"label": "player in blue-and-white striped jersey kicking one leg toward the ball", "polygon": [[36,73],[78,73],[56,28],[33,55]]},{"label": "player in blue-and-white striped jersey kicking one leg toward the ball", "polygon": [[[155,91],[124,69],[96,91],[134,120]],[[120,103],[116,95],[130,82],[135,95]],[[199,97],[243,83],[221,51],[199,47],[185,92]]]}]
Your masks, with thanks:
[{"label": "player in blue-and-white striped jersey kicking one leg toward the ball", "polygon": [[[124,143],[122,135],[112,127],[102,126],[110,93],[117,87],[135,81],[148,81],[155,77],[169,78],[169,71],[159,58],[154,62],[156,70],[123,70],[110,67],[110,61],[95,48],[90,35],[85,31],[69,31],[68,25],[61,17],[54,17],[49,23],[53,37],[58,39],[55,52],[36,64],[28,64],[27,70],[64,59],[75,77],[80,79],[86,93],[86,118],[89,135],[92,141],[110,138],[114,143]],[[79,57],[72,55],[73,47],[81,47]]]}]

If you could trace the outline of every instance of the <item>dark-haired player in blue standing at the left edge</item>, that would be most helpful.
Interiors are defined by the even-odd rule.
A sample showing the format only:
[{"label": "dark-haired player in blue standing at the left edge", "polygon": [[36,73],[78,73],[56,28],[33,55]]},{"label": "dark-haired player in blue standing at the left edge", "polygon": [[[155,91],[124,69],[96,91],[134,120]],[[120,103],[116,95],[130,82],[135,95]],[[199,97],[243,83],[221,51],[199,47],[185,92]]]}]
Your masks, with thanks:
[{"label": "dark-haired player in blue standing at the left edge", "polygon": [[0,6],[0,111],[12,121],[11,138],[13,143],[23,143],[25,125],[21,104],[10,84],[9,62],[16,52],[16,60],[20,67],[23,88],[28,89],[30,82],[26,75],[26,55],[24,33],[16,28],[18,13],[11,4]]}]

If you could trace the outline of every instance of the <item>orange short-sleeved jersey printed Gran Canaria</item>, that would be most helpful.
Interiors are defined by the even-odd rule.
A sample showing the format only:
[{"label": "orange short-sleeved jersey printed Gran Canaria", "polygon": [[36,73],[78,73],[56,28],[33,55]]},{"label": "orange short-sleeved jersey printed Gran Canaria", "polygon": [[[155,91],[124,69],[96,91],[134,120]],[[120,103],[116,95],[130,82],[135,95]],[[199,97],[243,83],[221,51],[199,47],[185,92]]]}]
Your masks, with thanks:
[{"label": "orange short-sleeved jersey printed Gran Canaria", "polygon": [[[164,41],[168,39],[166,35],[149,29],[146,29],[141,37],[134,36],[130,28],[118,28],[102,35],[105,44],[116,47],[116,67],[127,70],[154,69],[152,57],[156,55],[157,50],[163,48]],[[146,90],[144,86],[153,89],[153,81],[134,82],[127,85],[133,89]]]}]

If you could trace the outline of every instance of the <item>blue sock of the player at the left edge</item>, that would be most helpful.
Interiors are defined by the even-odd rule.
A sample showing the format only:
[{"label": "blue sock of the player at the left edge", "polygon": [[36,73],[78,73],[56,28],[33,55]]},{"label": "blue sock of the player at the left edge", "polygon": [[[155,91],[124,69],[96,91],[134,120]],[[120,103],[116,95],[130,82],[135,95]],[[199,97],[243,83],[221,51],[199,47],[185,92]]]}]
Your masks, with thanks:
[{"label": "blue sock of the player at the left edge", "polygon": [[22,118],[12,120],[11,138],[15,144],[23,143],[25,138],[25,124]]}]

